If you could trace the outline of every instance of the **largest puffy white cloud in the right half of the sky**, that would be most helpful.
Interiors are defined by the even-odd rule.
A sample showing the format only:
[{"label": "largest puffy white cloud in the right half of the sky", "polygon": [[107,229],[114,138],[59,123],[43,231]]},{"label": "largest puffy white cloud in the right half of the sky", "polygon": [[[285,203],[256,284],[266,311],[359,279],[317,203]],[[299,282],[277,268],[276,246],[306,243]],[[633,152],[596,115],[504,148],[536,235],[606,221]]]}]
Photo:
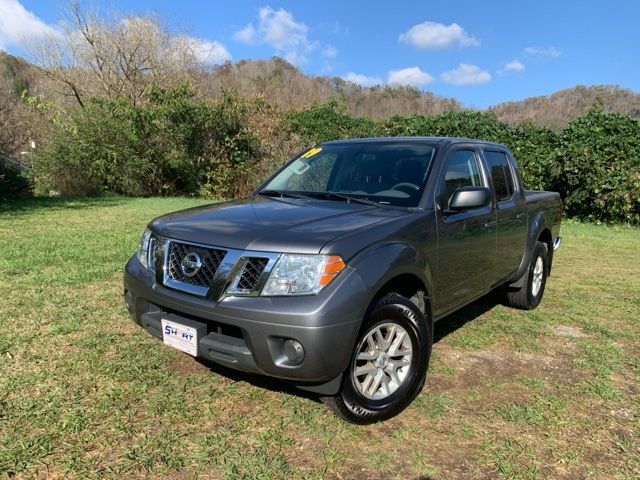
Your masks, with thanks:
[{"label": "largest puffy white cloud in the right half of the sky", "polygon": [[465,32],[457,23],[445,25],[436,22],[418,23],[407,32],[401,33],[399,40],[418,48],[476,47],[480,42]]}]

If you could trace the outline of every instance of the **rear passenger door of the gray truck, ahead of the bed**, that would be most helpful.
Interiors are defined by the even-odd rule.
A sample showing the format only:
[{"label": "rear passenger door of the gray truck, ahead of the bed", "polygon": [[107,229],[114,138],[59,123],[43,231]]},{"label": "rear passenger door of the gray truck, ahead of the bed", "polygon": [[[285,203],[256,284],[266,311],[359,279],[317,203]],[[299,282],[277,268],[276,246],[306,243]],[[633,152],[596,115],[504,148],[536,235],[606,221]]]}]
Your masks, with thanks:
[{"label": "rear passenger door of the gray truck, ahead of the bed", "polygon": [[507,152],[498,147],[487,147],[483,154],[493,182],[497,207],[495,280],[501,280],[513,273],[522,260],[527,237],[527,203]]}]

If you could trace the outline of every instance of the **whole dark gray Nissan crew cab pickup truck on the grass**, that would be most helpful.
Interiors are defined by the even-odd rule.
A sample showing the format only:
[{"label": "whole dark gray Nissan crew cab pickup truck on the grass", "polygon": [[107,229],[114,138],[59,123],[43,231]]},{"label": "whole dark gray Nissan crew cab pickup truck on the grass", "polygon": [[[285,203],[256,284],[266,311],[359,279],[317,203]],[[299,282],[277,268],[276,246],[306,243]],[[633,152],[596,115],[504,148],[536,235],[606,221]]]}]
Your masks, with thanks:
[{"label": "whole dark gray Nissan crew cab pickup truck on the grass", "polygon": [[326,142],[248,198],[150,222],[125,303],[174,348],[371,423],[420,392],[434,322],[496,288],[540,303],[561,216],[557,193],[523,189],[504,145]]}]

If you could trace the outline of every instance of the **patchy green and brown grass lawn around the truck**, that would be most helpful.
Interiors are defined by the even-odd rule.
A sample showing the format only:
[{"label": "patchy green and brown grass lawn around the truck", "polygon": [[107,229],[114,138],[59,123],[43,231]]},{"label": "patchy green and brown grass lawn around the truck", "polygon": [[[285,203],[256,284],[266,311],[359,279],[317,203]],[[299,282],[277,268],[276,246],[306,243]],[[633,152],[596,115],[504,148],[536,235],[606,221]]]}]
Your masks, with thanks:
[{"label": "patchy green and brown grass lawn around the truck", "polygon": [[640,229],[566,223],[537,310],[443,320],[424,391],[358,427],[129,319],[144,226],[198,203],[0,205],[0,478],[640,476]]}]

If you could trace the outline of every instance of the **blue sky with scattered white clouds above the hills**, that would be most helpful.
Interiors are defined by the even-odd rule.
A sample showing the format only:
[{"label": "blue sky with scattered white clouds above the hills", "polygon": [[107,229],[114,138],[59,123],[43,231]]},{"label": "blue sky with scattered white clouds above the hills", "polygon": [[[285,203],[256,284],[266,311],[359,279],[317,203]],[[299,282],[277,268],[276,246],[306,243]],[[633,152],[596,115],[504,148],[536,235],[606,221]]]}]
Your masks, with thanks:
[{"label": "blue sky with scattered white clouds above the hills", "polygon": [[[470,106],[576,84],[640,91],[638,0],[95,4],[159,12],[198,39],[208,63],[280,55],[306,73],[411,84]],[[0,48],[23,54],[24,37],[55,28],[64,5],[0,0]]]}]

